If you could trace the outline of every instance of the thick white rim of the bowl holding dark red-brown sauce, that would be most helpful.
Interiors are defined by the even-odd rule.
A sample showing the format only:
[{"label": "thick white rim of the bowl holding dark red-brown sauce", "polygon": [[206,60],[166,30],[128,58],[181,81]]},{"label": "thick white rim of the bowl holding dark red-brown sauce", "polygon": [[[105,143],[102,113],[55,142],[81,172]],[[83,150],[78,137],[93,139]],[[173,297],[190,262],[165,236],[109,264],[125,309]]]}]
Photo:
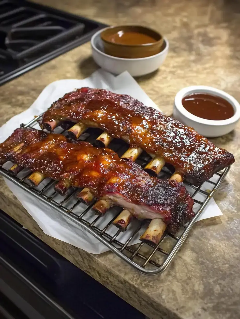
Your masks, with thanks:
[{"label": "thick white rim of the bowl holding dark red-brown sauce", "polygon": [[[226,120],[207,120],[207,119],[203,119],[201,117],[198,117],[196,115],[193,115],[192,113],[188,112],[182,104],[182,99],[192,93],[209,93],[212,95],[217,95],[219,97],[222,97],[223,99],[227,100],[233,107],[234,109],[234,115],[232,117],[230,117],[229,119]],[[205,125],[209,125],[209,126],[223,126],[223,125],[228,125],[228,124],[233,124],[235,122],[237,122],[240,118],[240,104],[238,103],[238,101],[231,96],[230,94],[216,89],[212,86],[206,86],[206,85],[192,85],[192,86],[187,86],[183,89],[181,89],[180,91],[178,91],[178,93],[176,94],[175,98],[174,98],[174,104],[175,107],[178,109],[178,111],[185,116],[186,118],[200,123],[200,124],[205,124]]]}]

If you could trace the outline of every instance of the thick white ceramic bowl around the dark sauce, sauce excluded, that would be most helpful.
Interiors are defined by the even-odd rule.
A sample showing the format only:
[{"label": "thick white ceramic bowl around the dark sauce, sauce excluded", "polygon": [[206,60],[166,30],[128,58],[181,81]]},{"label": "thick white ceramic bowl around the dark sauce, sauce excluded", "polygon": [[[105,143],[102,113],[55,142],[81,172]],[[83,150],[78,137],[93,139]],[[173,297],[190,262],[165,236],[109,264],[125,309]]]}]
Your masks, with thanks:
[{"label": "thick white ceramic bowl around the dark sauce, sauce excluded", "polygon": [[[227,100],[234,109],[234,115],[227,120],[213,121],[202,119],[188,112],[182,105],[182,99],[192,93],[209,93]],[[211,86],[194,85],[180,90],[174,99],[173,117],[183,124],[193,127],[205,137],[218,137],[231,132],[240,118],[240,105],[234,97],[228,93]]]}]

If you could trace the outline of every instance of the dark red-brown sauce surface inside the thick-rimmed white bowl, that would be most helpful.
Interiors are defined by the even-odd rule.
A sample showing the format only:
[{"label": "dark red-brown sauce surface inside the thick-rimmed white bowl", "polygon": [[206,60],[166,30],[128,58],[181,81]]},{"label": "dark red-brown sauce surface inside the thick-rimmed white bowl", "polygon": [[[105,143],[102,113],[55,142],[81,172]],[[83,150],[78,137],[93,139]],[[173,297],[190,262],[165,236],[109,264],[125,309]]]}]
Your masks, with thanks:
[{"label": "dark red-brown sauce surface inside the thick-rimmed white bowl", "polygon": [[234,115],[227,100],[207,93],[189,94],[182,99],[182,105],[191,114],[207,120],[221,121]]}]

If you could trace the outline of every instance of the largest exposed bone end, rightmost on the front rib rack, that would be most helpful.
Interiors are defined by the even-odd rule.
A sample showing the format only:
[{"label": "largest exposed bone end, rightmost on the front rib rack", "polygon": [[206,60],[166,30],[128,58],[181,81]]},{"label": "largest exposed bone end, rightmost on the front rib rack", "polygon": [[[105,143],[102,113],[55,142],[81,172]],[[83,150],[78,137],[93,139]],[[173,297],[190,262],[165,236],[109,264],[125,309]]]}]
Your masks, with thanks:
[{"label": "largest exposed bone end, rightmost on the front rib rack", "polygon": [[152,244],[156,246],[163,236],[165,229],[166,224],[163,222],[162,219],[152,219],[149,223],[148,228],[140,237],[140,240],[146,244]]}]

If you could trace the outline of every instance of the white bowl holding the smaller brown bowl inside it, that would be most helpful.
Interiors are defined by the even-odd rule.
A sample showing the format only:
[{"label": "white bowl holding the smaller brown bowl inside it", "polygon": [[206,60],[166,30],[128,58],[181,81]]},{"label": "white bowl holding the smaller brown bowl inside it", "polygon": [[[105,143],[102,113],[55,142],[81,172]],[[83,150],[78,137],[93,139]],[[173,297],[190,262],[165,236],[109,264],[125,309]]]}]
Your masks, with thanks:
[{"label": "white bowl holding the smaller brown bowl inside it", "polygon": [[149,74],[157,70],[167,56],[169,43],[166,38],[164,38],[164,49],[154,56],[139,59],[109,56],[104,53],[103,43],[100,38],[100,33],[103,30],[99,30],[91,38],[92,57],[101,68],[108,72],[120,74],[128,71],[133,77]]}]

